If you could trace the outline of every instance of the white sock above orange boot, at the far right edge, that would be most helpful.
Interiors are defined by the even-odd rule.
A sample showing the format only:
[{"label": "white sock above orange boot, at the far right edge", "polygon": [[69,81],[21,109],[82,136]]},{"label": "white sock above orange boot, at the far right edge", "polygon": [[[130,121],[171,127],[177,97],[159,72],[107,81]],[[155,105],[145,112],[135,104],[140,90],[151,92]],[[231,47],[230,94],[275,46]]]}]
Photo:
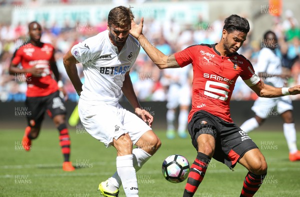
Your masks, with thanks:
[{"label": "white sock above orange boot, at the far right edge", "polygon": [[283,123],[283,133],[287,142],[287,146],[290,153],[295,153],[297,149],[296,145],[296,129],[294,123]]}]

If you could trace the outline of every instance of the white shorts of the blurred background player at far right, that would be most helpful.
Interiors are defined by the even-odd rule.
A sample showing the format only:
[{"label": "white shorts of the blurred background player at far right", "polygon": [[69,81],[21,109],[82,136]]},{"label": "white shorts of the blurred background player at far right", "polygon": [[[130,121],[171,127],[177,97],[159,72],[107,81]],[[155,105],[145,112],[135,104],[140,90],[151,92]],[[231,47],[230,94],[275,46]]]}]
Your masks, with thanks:
[{"label": "white shorts of the blurred background player at far right", "polygon": [[292,110],[293,107],[289,96],[276,98],[259,97],[254,101],[251,109],[258,117],[265,119],[268,116],[276,115],[274,112],[281,114],[287,110]]}]

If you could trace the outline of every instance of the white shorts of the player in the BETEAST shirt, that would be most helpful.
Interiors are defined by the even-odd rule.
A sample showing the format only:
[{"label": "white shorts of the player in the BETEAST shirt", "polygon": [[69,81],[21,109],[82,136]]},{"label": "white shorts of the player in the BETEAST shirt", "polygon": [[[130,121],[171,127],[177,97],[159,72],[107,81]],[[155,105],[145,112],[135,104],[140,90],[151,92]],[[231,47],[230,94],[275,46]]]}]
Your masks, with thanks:
[{"label": "white shorts of the player in the BETEAST shirt", "polygon": [[99,102],[97,105],[79,99],[78,113],[85,130],[94,138],[110,146],[112,139],[117,139],[128,133],[133,144],[143,133],[151,130],[141,118],[124,109],[120,104],[116,106]]}]

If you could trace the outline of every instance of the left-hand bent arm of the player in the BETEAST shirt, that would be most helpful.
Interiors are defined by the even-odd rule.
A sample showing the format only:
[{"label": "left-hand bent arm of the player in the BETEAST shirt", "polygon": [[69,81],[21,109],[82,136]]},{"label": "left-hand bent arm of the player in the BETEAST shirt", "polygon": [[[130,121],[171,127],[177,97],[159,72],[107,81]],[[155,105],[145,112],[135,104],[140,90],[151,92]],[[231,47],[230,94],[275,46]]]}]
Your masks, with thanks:
[{"label": "left-hand bent arm of the player in the BETEAST shirt", "polygon": [[82,91],[82,83],[78,76],[76,62],[77,62],[77,60],[72,55],[71,50],[67,51],[67,53],[65,53],[63,55],[63,65],[65,68],[65,71],[66,71],[68,77],[70,78],[77,94],[80,95],[80,92]]}]

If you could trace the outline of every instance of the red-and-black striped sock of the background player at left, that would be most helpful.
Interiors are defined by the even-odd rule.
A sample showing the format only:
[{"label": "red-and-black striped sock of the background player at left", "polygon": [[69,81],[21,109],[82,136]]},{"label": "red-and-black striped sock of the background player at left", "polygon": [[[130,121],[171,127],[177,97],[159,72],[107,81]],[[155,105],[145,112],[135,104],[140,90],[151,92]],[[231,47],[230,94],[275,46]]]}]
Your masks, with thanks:
[{"label": "red-and-black striped sock of the background player at left", "polygon": [[68,135],[68,129],[66,128],[65,123],[60,124],[57,129],[59,130],[59,145],[61,146],[64,161],[69,161],[71,142]]}]

